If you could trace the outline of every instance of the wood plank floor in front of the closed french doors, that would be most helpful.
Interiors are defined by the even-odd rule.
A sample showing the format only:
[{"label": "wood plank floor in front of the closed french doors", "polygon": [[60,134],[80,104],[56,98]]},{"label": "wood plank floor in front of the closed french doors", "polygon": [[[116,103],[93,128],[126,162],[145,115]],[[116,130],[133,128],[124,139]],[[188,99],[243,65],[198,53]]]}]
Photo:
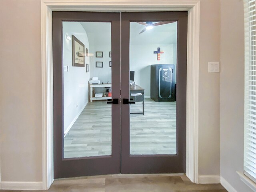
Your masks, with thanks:
[{"label": "wood plank floor in front of the closed french doors", "polygon": [[227,192],[220,184],[194,184],[184,174],[130,174],[54,180],[46,191],[0,192]]}]

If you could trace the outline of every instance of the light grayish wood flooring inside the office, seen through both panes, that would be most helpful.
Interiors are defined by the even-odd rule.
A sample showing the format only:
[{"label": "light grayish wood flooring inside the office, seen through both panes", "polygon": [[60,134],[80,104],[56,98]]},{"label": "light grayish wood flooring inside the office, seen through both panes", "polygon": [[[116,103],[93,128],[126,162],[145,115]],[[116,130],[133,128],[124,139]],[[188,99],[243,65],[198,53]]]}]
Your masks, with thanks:
[{"label": "light grayish wood flooring inside the office, seen through both panes", "polygon": [[[130,105],[142,112],[142,102]],[[144,101],[130,114],[131,154],[176,154],[176,102]],[[64,158],[111,155],[111,104],[89,102],[64,138]]]}]

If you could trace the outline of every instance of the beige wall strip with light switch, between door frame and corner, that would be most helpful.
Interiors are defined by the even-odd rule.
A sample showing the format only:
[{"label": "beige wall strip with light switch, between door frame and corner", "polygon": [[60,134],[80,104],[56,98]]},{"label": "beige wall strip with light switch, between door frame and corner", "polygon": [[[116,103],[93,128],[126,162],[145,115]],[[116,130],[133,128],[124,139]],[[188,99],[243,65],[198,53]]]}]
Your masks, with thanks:
[{"label": "beige wall strip with light switch, between door frame and corner", "polygon": [[199,175],[220,174],[220,74],[208,62],[220,61],[220,1],[200,2]]}]

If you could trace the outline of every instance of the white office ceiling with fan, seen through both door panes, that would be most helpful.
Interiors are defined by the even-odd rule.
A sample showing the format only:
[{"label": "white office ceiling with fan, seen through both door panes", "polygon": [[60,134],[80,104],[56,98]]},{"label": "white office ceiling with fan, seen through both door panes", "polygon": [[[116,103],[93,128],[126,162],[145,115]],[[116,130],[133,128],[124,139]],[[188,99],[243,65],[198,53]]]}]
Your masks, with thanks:
[{"label": "white office ceiling with fan, seen through both door panes", "polygon": [[[111,43],[111,24],[104,22],[80,22],[88,35],[90,43],[107,45]],[[154,22],[155,23],[155,22]],[[176,44],[177,22],[154,26],[152,30],[140,32],[144,25],[130,23],[130,44]]]}]

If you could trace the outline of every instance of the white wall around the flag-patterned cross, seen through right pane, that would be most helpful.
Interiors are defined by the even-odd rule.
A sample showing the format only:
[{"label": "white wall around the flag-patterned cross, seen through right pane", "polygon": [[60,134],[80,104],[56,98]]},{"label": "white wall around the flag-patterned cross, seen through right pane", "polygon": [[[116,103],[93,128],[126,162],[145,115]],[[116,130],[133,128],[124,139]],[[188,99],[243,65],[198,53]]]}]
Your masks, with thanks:
[{"label": "white wall around the flag-patterned cross, seen through right pane", "polygon": [[[157,60],[157,54],[154,54],[154,51],[157,51],[158,47],[164,51],[164,53],[161,54],[159,61]],[[145,89],[144,94],[146,97],[150,98],[151,65],[175,64],[176,69],[176,50],[176,44],[130,45],[130,70],[135,71],[134,82]]]}]

